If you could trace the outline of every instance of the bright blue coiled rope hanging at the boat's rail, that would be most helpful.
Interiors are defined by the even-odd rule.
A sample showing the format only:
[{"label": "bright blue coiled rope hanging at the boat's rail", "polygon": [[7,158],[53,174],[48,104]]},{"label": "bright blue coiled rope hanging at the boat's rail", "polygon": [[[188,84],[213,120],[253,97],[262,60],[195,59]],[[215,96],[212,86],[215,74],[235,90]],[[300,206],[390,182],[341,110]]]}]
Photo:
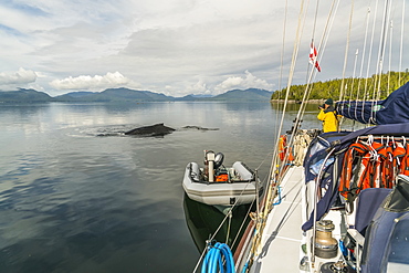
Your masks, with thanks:
[{"label": "bright blue coiled rope hanging at the boat's rail", "polygon": [[201,266],[202,273],[235,273],[234,260],[229,245],[217,242],[214,245],[209,245],[208,249]]}]

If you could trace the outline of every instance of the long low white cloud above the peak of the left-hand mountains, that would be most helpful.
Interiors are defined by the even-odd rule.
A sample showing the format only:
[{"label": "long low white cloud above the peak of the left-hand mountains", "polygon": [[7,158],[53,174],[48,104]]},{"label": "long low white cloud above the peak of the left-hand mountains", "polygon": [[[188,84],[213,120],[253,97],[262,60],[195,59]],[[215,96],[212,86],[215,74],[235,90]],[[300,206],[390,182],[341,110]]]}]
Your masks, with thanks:
[{"label": "long low white cloud above the peak of the left-hand mountains", "polygon": [[127,85],[132,81],[125,77],[119,72],[106,73],[104,76],[95,75],[81,75],[77,77],[66,77],[63,80],[54,80],[50,86],[56,90],[92,90],[92,88],[112,88]]}]

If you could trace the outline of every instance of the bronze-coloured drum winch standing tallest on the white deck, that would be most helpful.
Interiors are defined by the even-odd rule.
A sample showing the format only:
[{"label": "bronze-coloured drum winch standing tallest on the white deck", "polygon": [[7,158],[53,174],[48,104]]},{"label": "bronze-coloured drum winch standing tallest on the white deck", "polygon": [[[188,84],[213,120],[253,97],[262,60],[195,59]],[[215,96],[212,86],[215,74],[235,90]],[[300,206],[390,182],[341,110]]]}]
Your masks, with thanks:
[{"label": "bronze-coloured drum winch standing tallest on the white deck", "polygon": [[323,259],[335,258],[338,253],[338,241],[333,238],[335,225],[331,220],[321,220],[316,225],[315,255]]}]

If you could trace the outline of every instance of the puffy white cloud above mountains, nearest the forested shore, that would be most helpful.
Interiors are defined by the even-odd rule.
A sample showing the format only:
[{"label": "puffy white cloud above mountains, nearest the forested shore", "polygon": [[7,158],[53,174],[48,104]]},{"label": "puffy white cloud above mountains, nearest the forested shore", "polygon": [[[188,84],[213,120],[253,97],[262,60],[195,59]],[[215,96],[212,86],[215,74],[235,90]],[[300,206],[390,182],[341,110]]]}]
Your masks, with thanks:
[{"label": "puffy white cloud above mountains, nearest the forested shore", "polygon": [[214,92],[217,94],[221,94],[232,88],[260,88],[272,91],[273,86],[273,84],[268,83],[265,80],[258,78],[249,71],[245,71],[245,77],[231,76],[224,80],[221,84],[217,85],[214,87]]}]

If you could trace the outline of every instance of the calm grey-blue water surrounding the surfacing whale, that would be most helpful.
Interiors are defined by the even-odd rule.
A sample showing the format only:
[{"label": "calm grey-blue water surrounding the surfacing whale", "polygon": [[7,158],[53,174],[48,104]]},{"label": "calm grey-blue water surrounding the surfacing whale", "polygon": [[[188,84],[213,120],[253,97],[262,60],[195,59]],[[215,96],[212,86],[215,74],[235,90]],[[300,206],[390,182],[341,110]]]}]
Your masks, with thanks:
[{"label": "calm grey-blue water surrounding the surfacing whale", "polygon": [[[316,114],[306,127],[321,126]],[[122,134],[156,123],[178,130]],[[191,272],[186,165],[212,149],[227,166],[264,161],[263,180],[275,124],[269,103],[1,105],[0,272]]]}]

